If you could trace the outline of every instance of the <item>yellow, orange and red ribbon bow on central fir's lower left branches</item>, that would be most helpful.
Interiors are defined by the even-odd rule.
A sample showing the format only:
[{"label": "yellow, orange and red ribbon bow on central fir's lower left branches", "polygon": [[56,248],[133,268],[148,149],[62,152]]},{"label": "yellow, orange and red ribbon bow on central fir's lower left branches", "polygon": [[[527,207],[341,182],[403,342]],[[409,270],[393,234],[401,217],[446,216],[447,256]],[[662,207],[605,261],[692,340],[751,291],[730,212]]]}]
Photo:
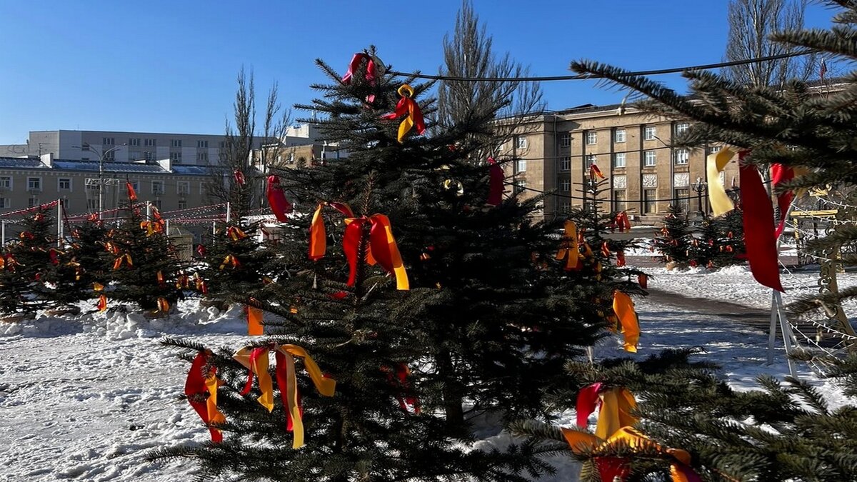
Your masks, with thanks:
[{"label": "yellow, orange and red ribbon bow on central fir's lower left branches", "polygon": [[286,430],[294,433],[293,449],[303,447],[303,408],[301,395],[297,389],[295,375],[295,358],[303,358],[303,367],[309,373],[315,389],[321,395],[333,396],[336,391],[336,381],[324,377],[315,360],[301,346],[276,345],[260,347],[244,347],[238,350],[232,358],[249,370],[247,384],[242,395],[249,394],[253,388],[253,375],[259,378],[261,396],[257,399],[268,412],[273,411],[273,382],[268,373],[268,353],[273,351],[277,362],[276,374],[280,396],[283,397],[283,408],[286,416]]}]

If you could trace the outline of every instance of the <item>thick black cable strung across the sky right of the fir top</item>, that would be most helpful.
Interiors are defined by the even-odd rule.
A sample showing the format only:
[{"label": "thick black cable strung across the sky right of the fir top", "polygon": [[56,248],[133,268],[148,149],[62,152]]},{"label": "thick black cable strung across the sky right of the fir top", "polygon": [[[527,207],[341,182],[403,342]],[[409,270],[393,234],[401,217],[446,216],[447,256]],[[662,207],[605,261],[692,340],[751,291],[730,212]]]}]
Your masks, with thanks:
[{"label": "thick black cable strung across the sky right of the fir top", "polygon": [[[767,57],[754,57],[747,58],[744,60],[733,60],[731,62],[718,62],[718,63],[705,63],[702,65],[690,65],[686,67],[674,67],[672,69],[654,69],[654,70],[638,70],[637,72],[623,72],[620,74],[622,77],[634,77],[638,75],[663,75],[663,74],[677,74],[680,72],[684,72],[686,70],[707,70],[707,69],[719,69],[721,67],[731,67],[733,65],[744,65],[746,63],[760,63],[760,62],[768,62],[770,60],[780,60],[782,58],[789,57],[800,57],[802,55],[811,54],[813,51],[810,49],[794,51],[791,53],[781,53],[779,55],[770,55]],[[428,74],[419,74],[417,72],[399,72],[398,70],[390,70],[388,72],[393,76],[398,77],[414,77],[417,79],[428,79],[433,81],[464,81],[464,82],[509,82],[509,81],[530,81],[530,82],[544,82],[544,81],[582,81],[587,79],[602,79],[603,75],[595,75],[595,74],[575,74],[575,75],[548,75],[545,77],[524,77],[524,76],[514,76],[514,77],[458,77],[455,75],[428,75]]]}]

